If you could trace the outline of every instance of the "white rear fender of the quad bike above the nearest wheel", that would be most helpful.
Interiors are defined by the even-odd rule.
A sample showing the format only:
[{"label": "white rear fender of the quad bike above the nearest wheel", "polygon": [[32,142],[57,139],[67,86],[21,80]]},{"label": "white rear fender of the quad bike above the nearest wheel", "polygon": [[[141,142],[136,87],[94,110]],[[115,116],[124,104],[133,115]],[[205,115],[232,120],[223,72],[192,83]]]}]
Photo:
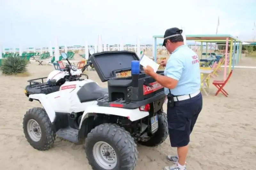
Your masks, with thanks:
[{"label": "white rear fender of the quad bike above the nearest wheel", "polygon": [[140,111],[139,108],[126,109],[126,108],[120,108],[120,107],[104,107],[104,106],[92,105],[90,107],[87,107],[84,110],[82,120],[79,125],[79,129],[81,128],[84,119],[86,119],[92,113],[127,117],[132,122],[136,120],[140,120],[143,117],[146,117],[149,115],[148,112]]}]

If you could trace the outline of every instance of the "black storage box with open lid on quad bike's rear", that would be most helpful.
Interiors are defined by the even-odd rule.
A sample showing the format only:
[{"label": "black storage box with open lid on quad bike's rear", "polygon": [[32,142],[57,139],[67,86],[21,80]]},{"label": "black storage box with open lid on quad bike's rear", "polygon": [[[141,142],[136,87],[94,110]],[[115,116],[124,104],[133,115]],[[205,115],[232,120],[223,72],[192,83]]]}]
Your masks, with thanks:
[{"label": "black storage box with open lid on quad bike's rear", "polygon": [[[133,60],[139,61],[140,59],[135,52],[131,51],[107,51],[90,56],[90,61],[100,80],[102,82],[108,81],[108,98],[99,99],[99,105],[107,106],[109,103],[131,105],[133,103],[132,105],[135,107],[135,103],[142,106],[144,103],[148,104],[165,96],[163,86],[146,75],[142,66],[140,66],[138,87],[132,87],[130,74]],[[123,73],[126,74],[126,77],[122,77]],[[157,73],[164,75],[163,71]]]}]

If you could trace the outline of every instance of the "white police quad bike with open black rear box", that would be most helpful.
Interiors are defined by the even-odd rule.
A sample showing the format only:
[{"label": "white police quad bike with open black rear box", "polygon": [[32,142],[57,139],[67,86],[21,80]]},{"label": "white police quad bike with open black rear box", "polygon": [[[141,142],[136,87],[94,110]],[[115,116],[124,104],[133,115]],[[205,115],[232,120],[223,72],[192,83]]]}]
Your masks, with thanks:
[{"label": "white police quad bike with open black rear box", "polygon": [[[65,53],[62,57],[67,59]],[[29,80],[25,94],[42,107],[27,111],[23,130],[29,144],[37,150],[49,149],[59,136],[74,143],[85,139],[85,152],[93,170],[132,170],[138,159],[136,143],[162,144],[168,136],[163,112],[163,86],[140,73],[131,75],[134,52],[111,51],[92,54],[90,61],[102,82],[101,88],[82,71],[67,65],[53,71],[47,82]],[[158,72],[163,74],[163,72]],[[79,75],[80,74],[80,75]],[[37,80],[38,80],[37,79]]]}]

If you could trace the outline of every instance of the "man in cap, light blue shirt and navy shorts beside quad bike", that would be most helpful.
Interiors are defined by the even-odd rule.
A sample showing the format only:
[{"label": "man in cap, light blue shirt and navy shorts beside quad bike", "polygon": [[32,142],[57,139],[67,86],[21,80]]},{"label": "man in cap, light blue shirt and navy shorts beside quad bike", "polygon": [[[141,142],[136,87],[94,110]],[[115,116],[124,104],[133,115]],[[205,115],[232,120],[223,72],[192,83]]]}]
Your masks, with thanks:
[{"label": "man in cap, light blue shirt and navy shorts beside quad bike", "polygon": [[170,52],[164,76],[156,74],[147,66],[143,67],[146,74],[164,86],[168,97],[167,119],[169,136],[172,147],[177,147],[178,156],[167,156],[174,162],[173,166],[166,166],[164,170],[185,170],[188,154],[189,136],[202,110],[202,94],[200,92],[200,66],[196,53],[184,45],[182,30],[167,29],[164,33],[163,46]]}]

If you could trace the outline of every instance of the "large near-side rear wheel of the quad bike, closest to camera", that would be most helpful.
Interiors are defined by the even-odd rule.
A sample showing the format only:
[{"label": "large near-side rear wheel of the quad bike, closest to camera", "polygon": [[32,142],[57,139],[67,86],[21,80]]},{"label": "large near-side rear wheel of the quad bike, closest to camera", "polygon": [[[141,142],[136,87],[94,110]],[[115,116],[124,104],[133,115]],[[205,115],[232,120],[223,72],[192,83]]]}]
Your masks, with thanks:
[{"label": "large near-side rear wheel of the quad bike, closest to camera", "polygon": [[85,153],[93,170],[132,170],[138,151],[133,138],[115,124],[101,124],[88,134]]}]

